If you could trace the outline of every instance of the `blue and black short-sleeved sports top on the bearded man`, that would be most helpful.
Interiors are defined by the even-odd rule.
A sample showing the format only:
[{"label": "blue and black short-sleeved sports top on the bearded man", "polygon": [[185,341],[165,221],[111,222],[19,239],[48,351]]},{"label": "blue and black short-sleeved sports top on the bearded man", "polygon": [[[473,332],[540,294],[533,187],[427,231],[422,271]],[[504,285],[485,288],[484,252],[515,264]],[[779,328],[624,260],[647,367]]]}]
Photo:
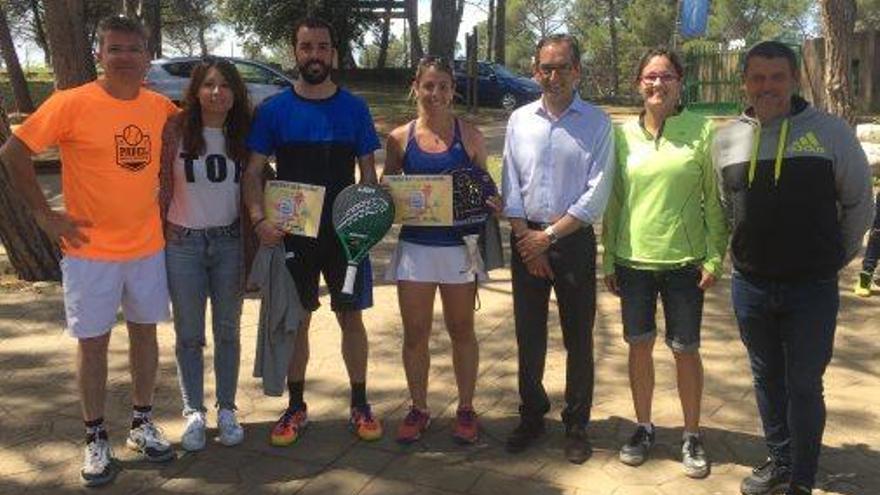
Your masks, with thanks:
[{"label": "blue and black short-sleeved sports top on the bearded man", "polygon": [[257,107],[248,148],[275,155],[278,180],[326,187],[321,231],[333,231],[333,200],[354,184],[355,158],[379,149],[370,109],[361,98],[339,88],[312,100],[291,88]]}]

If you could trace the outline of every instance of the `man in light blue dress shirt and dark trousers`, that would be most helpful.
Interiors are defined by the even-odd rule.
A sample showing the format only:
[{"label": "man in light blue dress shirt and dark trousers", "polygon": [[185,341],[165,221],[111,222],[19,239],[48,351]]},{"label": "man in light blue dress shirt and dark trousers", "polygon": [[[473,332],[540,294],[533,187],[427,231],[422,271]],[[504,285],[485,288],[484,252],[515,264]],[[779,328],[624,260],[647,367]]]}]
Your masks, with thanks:
[{"label": "man in light blue dress shirt and dark trousers", "polygon": [[593,402],[596,238],[593,223],[611,193],[611,119],[580,99],[580,50],[569,35],[542,39],[535,79],[543,95],[515,111],[504,142],[504,213],[510,220],[511,272],[519,354],[520,424],[507,440],[519,452],[544,433],[550,401],[542,383],[547,313],[556,292],[565,348],[566,458],[591,454],[586,427]]}]

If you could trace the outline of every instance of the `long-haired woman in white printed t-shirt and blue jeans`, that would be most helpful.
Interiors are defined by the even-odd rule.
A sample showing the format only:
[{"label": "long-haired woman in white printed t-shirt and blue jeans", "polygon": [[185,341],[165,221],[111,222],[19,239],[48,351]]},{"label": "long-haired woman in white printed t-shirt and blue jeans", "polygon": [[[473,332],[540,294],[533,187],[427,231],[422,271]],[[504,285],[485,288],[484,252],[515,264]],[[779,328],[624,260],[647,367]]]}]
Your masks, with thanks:
[{"label": "long-haired woman in white printed t-shirt and blue jeans", "polygon": [[246,232],[240,178],[251,110],[235,66],[206,59],[192,70],[183,111],[169,119],[162,141],[162,190],[168,287],[177,335],[183,414],[181,445],[205,446],[205,310],[211,300],[218,440],[241,443],[235,417],[240,357]]}]

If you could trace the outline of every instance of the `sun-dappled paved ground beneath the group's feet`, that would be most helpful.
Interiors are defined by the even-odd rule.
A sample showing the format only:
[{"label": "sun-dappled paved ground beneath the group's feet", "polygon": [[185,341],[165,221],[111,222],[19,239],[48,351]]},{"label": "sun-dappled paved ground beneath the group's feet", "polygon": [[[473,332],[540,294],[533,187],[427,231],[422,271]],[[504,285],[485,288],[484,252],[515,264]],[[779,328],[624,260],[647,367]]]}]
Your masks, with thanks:
[{"label": "sun-dappled paved ground beneath the group's feet", "polygon": [[[387,263],[389,245],[375,257],[377,273]],[[842,285],[849,286],[848,270]],[[657,367],[655,422],[660,426],[651,461],[640,468],[616,460],[618,446],[633,428],[617,300],[600,290],[595,329],[596,400],[591,435],[595,454],[583,466],[568,464],[562,454],[564,351],[558,320],[551,313],[551,345],[546,383],[554,409],[550,434],[536,448],[507,454],[504,438],[516,423],[516,347],[514,345],[509,272],[499,270],[481,290],[477,315],[481,361],[476,407],[483,435],[469,448],[449,438],[455,389],[449,339],[441,315],[435,314],[431,342],[430,407],[436,417],[423,441],[400,447],[392,440],[407,407],[400,363],[401,324],[395,290],[376,289],[376,308],[365,313],[370,335],[370,397],[384,419],[386,438],[376,443],[353,439],[346,430],[348,385],[339,355],[339,331],[329,310],[318,311],[312,329],[306,400],[313,424],[290,448],[267,444],[269,429],[285,401],[264,397],[251,378],[257,301],[245,304],[239,389],[245,443],[225,448],[210,443],[198,454],[181,454],[174,462],[138,462],[122,440],[129,415],[127,338],[122,324],[110,346],[107,419],[124,471],[109,493],[327,493],[327,494],[734,494],[749,466],[764,457],[759,422],[743,347],[730,313],[729,280],[708,295],[703,326],[706,365],[704,427],[711,476],[686,478],[677,461],[681,435],[675,394],[674,363],[662,346]],[[821,462],[821,487],[827,493],[880,493],[880,417],[874,399],[878,386],[880,298],[857,299],[844,288],[837,347],[826,378],[829,420]],[[66,493],[80,491],[82,423],[76,400],[75,346],[62,333],[63,307],[57,286],[0,293],[0,493]],[[873,318],[872,318],[873,317]],[[156,394],[158,421],[169,438],[179,438],[179,410],[174,366],[173,331],[160,327],[160,380]],[[212,348],[207,349],[210,363]],[[207,396],[213,397],[211,375]],[[213,424],[213,415],[209,423]]]}]

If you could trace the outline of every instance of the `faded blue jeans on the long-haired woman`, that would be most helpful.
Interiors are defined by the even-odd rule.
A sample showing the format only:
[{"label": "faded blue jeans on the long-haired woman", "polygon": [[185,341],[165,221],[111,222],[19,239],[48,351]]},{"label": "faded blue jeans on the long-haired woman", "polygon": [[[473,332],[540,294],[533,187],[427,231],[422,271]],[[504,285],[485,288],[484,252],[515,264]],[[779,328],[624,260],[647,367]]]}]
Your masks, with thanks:
[{"label": "faded blue jeans on the long-haired woman", "polygon": [[168,288],[177,334],[177,375],[183,413],[204,412],[205,307],[211,298],[217,405],[235,409],[241,320],[239,227],[166,229]]}]

